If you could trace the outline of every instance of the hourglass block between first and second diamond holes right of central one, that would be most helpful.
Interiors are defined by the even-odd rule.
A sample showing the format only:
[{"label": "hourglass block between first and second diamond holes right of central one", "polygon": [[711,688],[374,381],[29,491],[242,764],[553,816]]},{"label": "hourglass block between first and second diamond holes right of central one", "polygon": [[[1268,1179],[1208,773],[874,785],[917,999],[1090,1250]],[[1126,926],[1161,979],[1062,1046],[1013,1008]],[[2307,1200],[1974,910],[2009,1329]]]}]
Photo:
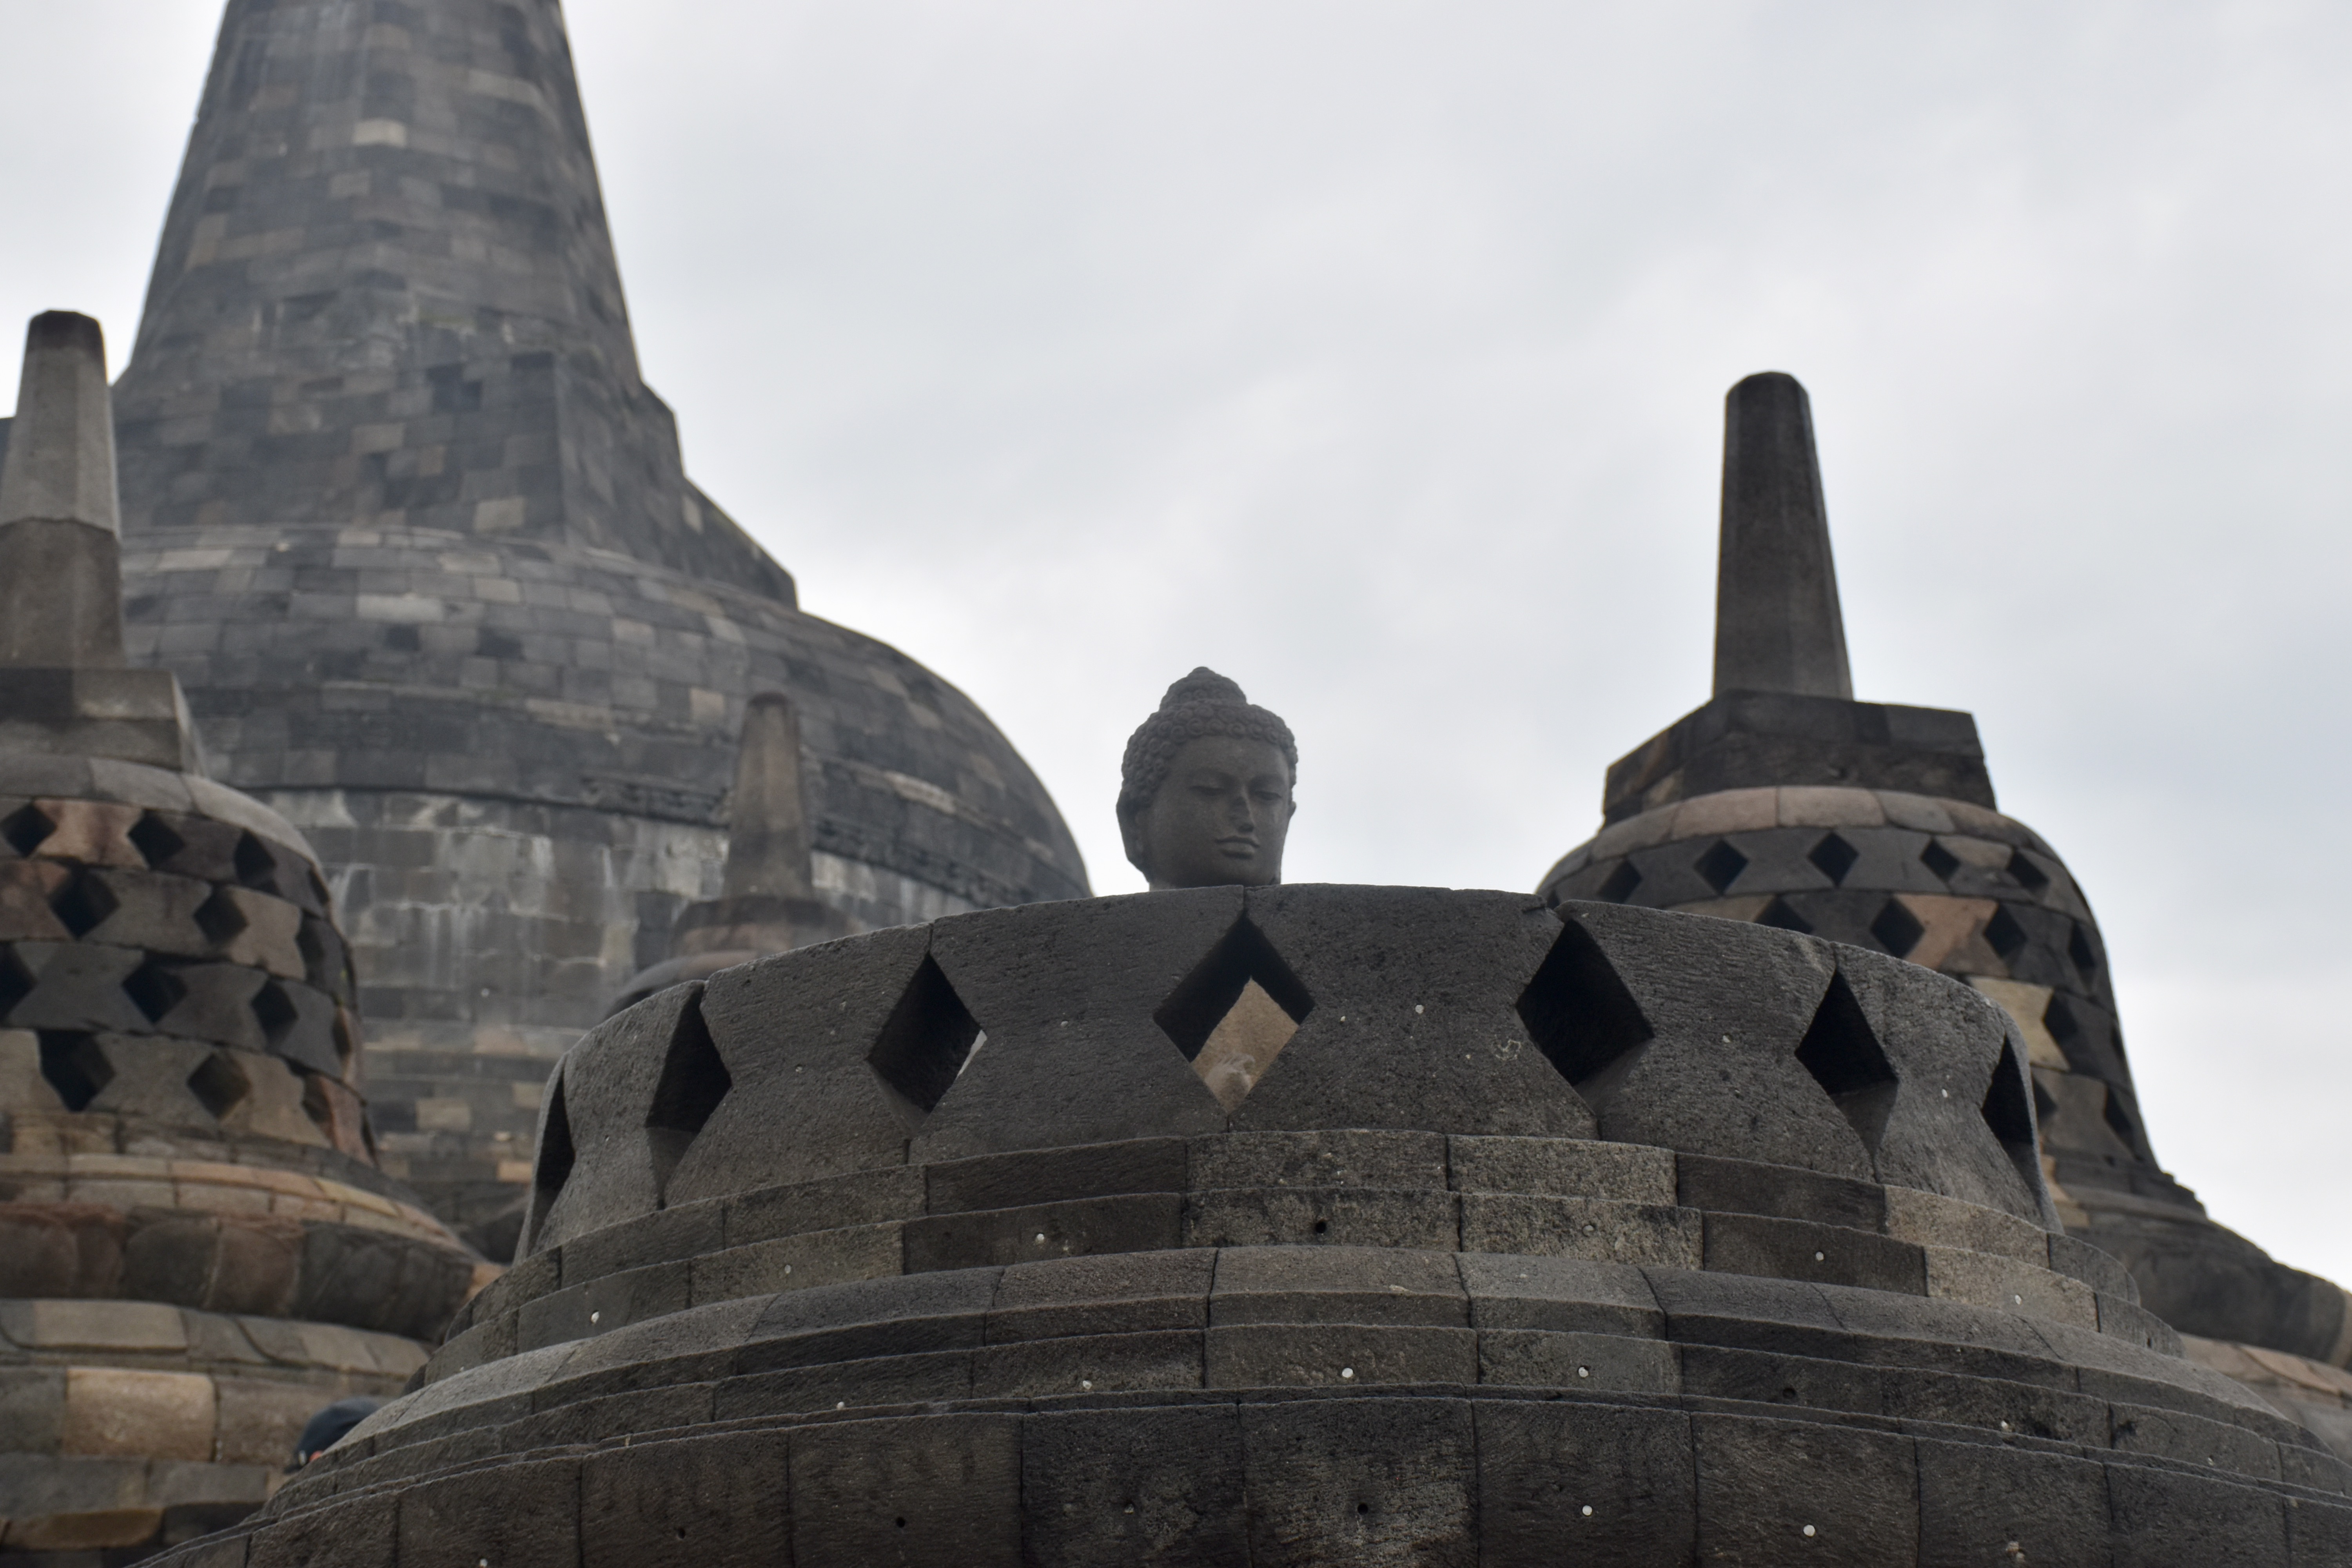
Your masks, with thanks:
[{"label": "hourglass block between first and second diamond holes right of central one", "polygon": [[1693,917],[1635,924],[1609,905],[1562,917],[1592,933],[1651,1030],[1609,1098],[1606,1138],[1870,1175],[1870,1152],[1797,1063],[1835,973],[1828,947]]}]

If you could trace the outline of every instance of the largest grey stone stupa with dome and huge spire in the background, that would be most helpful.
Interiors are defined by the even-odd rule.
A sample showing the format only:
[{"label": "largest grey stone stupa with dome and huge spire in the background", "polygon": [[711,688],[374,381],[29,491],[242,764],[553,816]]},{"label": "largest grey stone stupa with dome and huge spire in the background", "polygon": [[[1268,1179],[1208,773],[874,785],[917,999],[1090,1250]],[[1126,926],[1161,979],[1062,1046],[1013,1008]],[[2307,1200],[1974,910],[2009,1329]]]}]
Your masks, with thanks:
[{"label": "largest grey stone stupa with dome and huge spire in the background", "polygon": [[129,654],[318,846],[386,1164],[487,1246],[548,1063],[720,891],[748,696],[851,924],[1087,891],[988,717],[684,477],[555,0],[230,0],[115,402]]}]

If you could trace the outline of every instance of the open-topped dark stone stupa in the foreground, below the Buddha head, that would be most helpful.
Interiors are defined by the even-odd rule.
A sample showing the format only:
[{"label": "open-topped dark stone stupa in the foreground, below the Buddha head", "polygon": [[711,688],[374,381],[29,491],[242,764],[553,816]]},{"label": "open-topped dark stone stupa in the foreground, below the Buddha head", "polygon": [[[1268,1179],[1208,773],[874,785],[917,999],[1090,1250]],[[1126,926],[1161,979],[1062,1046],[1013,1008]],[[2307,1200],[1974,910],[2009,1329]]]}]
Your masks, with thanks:
[{"label": "open-topped dark stone stupa in the foreground, below the Buddha head", "polygon": [[569,1051],[522,1262],[165,1561],[2345,1561],[2352,1472],[2058,1229],[2025,1053],[1884,954],[1524,893],[802,947]]}]

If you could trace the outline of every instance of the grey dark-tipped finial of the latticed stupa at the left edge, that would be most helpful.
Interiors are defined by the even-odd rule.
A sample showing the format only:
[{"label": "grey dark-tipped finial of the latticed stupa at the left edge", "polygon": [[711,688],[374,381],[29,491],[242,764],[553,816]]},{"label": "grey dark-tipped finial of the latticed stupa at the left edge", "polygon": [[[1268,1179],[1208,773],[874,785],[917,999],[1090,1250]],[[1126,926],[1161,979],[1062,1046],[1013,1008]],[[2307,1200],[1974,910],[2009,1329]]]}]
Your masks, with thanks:
[{"label": "grey dark-tipped finial of the latticed stupa at the left edge", "polygon": [[106,339],[47,310],[24,339],[24,383],[0,465],[0,665],[122,663],[122,543]]}]

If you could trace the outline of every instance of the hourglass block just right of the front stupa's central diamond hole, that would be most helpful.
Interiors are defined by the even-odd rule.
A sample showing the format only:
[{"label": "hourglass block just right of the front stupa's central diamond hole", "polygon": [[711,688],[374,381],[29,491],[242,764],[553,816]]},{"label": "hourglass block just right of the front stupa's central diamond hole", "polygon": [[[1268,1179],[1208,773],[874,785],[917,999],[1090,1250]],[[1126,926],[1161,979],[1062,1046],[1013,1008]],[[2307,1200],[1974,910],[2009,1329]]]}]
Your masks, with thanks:
[{"label": "hourglass block just right of the front stupa's central diamond hole", "polygon": [[1270,886],[1249,891],[1249,919],[1315,1006],[1235,1128],[1592,1135],[1517,1013],[1559,938],[1538,898]]}]

